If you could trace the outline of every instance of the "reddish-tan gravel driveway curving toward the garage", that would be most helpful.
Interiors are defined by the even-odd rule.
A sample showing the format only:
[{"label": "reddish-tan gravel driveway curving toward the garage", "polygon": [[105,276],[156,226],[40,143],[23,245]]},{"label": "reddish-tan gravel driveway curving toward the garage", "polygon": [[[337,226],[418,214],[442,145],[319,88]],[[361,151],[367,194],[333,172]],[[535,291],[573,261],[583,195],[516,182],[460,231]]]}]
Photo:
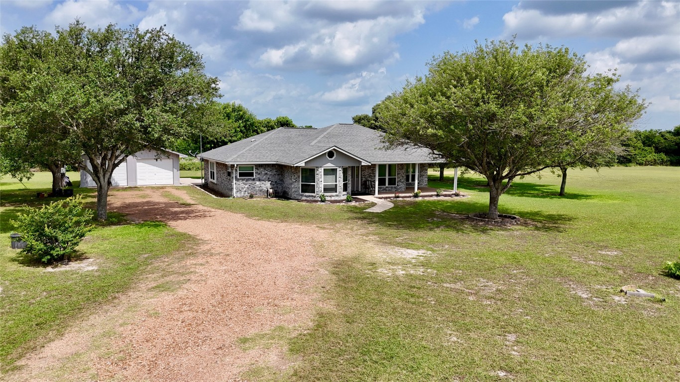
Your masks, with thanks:
[{"label": "reddish-tan gravel driveway curving toward the garage", "polygon": [[243,350],[237,340],[309,326],[316,291],[328,282],[314,241],[329,234],[182,205],[163,192],[190,201],[182,189],[141,188],[112,193],[109,209],[199,238],[196,254],[174,265],[187,271],[173,273],[179,289],[145,295],[140,281],[137,292],[24,358],[10,380],[240,381],[254,365],[290,366],[277,346]]}]

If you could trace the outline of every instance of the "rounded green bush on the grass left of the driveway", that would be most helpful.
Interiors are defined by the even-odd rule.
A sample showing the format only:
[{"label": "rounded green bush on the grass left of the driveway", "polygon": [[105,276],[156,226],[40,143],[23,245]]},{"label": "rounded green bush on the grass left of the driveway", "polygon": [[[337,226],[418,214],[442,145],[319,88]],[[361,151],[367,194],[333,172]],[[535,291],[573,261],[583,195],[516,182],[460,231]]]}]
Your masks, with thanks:
[{"label": "rounded green bush on the grass left of the driveway", "polygon": [[69,260],[92,230],[93,215],[92,210],[83,208],[80,195],[20,213],[14,224],[27,242],[22,254],[46,263]]}]

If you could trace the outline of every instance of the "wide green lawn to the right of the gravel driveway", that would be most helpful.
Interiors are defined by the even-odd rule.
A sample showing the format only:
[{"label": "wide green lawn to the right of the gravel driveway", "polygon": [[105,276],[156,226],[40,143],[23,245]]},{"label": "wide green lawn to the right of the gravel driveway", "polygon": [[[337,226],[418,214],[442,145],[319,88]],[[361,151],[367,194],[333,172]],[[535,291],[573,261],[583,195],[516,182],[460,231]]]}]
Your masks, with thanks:
[{"label": "wide green lawn to the right of the gravel driveway", "polygon": [[[452,173],[430,186],[451,188]],[[469,198],[368,207],[215,199],[199,203],[344,230],[356,243],[330,271],[308,332],[288,341],[290,381],[676,381],[680,281],[661,272],[680,256],[680,168],[616,167],[527,177],[500,211],[528,220],[474,226],[454,214],[486,211],[486,181],[462,177]],[[379,243],[432,253],[415,262],[375,256]],[[666,298],[624,297],[622,285]]]}]

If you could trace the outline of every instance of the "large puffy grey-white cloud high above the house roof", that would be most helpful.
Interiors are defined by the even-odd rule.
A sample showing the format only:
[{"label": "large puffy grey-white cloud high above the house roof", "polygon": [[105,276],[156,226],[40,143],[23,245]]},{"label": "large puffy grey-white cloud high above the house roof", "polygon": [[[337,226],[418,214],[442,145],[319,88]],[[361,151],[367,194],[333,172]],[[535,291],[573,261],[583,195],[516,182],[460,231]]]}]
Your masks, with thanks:
[{"label": "large puffy grey-white cloud high above the house roof", "polygon": [[284,70],[351,72],[399,58],[394,37],[424,23],[428,3],[255,1],[236,29],[269,45],[254,63]]}]

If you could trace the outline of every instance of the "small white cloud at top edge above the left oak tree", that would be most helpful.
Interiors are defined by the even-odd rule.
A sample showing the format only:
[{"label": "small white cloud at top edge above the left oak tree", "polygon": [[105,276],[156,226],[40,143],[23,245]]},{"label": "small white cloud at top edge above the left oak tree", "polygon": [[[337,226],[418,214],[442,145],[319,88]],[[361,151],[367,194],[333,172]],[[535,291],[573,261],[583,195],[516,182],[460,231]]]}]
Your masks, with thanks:
[{"label": "small white cloud at top edge above the left oak tree", "polygon": [[75,18],[80,18],[89,28],[106,27],[107,24],[112,22],[118,22],[119,27],[127,27],[139,16],[141,16],[141,12],[137,7],[117,1],[68,0],[57,4],[54,10],[45,16],[44,22],[68,27]]}]

